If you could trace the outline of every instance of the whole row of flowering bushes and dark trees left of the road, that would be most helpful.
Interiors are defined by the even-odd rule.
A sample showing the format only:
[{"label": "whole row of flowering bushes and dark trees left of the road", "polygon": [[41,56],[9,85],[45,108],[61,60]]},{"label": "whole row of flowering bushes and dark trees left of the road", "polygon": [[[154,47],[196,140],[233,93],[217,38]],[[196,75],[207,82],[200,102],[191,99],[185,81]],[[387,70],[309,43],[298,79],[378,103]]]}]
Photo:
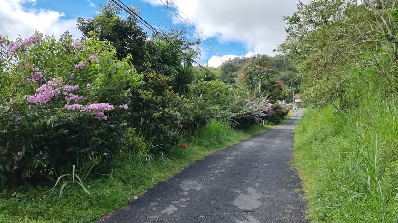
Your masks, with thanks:
[{"label": "whole row of flowering bushes and dark trees left of the road", "polygon": [[[217,80],[222,71],[194,67],[119,13],[108,4],[92,19],[79,18],[80,40],[67,31],[59,40],[39,32],[15,41],[1,37],[0,190],[56,181],[62,192],[70,178],[89,194],[82,179],[110,173],[117,157],[167,160],[182,136],[214,119],[248,129],[287,114],[266,95],[250,92],[255,85],[242,90]],[[164,34],[197,56],[191,46],[200,41],[190,42],[184,30]],[[267,77],[259,86],[274,92],[271,102],[281,95],[283,84],[276,83]]]}]

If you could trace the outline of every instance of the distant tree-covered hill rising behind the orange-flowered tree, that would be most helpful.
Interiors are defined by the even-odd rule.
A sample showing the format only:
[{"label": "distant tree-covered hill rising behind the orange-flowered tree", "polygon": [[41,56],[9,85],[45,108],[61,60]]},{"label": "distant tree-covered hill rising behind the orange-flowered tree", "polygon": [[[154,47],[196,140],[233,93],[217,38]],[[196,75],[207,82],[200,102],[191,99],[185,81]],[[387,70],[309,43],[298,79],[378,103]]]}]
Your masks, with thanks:
[{"label": "distant tree-covered hill rising behind the orange-flowered tree", "polygon": [[242,56],[231,58],[222,63],[218,69],[222,71],[222,79],[231,83],[237,83],[238,74],[240,73],[242,66],[250,62],[258,63],[259,66],[265,66],[273,69],[270,75],[271,79],[281,81],[289,88],[297,88],[293,90],[293,93],[299,91],[301,80],[297,79],[297,69],[293,66],[291,60],[282,56],[267,56],[265,54],[257,54],[252,57]]}]

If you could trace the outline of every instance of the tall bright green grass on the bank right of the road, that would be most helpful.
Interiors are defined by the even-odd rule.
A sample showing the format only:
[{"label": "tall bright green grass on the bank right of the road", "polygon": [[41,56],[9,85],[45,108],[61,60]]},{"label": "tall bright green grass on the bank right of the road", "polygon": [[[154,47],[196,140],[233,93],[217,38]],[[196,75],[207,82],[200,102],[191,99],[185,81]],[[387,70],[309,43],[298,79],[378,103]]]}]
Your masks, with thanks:
[{"label": "tall bright green grass on the bank right of the road", "polygon": [[398,222],[398,108],[362,89],[356,106],[307,109],[295,127],[294,162],[313,223]]}]

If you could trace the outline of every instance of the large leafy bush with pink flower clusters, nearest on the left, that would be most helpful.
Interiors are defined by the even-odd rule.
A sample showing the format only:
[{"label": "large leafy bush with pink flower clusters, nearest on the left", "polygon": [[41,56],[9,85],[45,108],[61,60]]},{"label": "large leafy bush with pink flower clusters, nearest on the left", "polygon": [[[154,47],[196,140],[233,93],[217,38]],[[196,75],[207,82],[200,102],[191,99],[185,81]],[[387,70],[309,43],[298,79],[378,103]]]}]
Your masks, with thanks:
[{"label": "large leafy bush with pink flower clusters, nearest on the left", "polygon": [[0,188],[57,177],[92,154],[110,163],[142,79],[115,55],[94,38],[1,38]]}]

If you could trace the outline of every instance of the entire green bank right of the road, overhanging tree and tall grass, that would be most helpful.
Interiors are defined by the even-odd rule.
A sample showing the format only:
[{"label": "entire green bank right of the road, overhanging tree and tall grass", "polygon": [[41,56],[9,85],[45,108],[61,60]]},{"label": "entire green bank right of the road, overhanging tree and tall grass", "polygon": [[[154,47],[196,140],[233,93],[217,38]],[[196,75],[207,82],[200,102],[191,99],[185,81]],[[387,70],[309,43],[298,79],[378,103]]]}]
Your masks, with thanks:
[{"label": "entire green bank right of the road, overhanging tree and tall grass", "polygon": [[298,1],[279,51],[309,106],[295,166],[311,222],[398,222],[398,10],[394,0]]}]

